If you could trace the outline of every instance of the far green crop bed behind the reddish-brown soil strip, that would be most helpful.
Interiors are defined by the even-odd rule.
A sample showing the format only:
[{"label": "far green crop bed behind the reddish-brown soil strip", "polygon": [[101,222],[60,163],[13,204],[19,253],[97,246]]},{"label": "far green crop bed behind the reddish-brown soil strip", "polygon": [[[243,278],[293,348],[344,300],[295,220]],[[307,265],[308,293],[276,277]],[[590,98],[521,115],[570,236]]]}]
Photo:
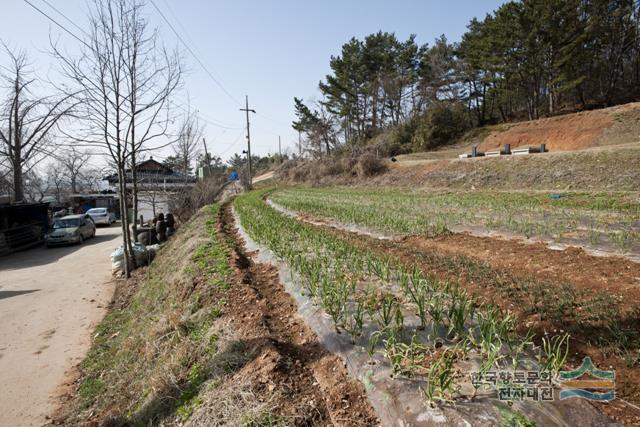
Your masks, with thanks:
[{"label": "far green crop bed behind the reddish-brown soil strip", "polygon": [[456,227],[516,233],[627,253],[640,251],[637,192],[485,192],[289,188],[277,204],[393,234],[439,235]]}]

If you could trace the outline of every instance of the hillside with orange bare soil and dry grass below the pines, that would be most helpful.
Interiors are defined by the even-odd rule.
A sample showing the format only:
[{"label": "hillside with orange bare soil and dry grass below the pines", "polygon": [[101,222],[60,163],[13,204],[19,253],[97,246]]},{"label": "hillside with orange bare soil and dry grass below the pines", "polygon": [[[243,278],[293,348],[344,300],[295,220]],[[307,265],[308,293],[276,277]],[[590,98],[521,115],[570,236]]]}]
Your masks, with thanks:
[{"label": "hillside with orange bare soil and dry grass below the pines", "polygon": [[[473,146],[482,152],[504,144],[512,148],[546,144],[548,152],[458,158]],[[640,103],[475,129],[439,150],[380,159],[381,165],[366,166],[368,173],[357,165],[361,158],[285,163],[276,179],[425,189],[635,191],[640,188]]]}]

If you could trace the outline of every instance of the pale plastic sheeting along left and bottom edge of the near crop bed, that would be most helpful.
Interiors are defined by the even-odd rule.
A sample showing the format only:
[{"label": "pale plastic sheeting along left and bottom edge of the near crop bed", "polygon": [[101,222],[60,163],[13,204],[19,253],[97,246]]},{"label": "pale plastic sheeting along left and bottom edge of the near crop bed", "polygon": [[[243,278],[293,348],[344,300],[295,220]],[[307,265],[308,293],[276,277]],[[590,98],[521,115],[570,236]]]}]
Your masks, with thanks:
[{"label": "pale plastic sheeting along left and bottom edge of the near crop bed", "polygon": [[[513,424],[522,415],[543,426],[608,426],[611,421],[583,400],[565,400],[548,403],[532,401],[514,402],[510,407],[496,398],[480,395],[473,401],[459,399],[455,405],[430,407],[426,404],[420,386],[423,380],[392,378],[391,367],[376,352],[371,364],[365,350],[366,338],[353,345],[347,334],[338,334],[331,318],[304,295],[300,281],[286,263],[280,262],[268,249],[258,245],[244,230],[235,210],[233,217],[247,252],[258,262],[278,268],[279,278],[287,292],[294,298],[298,314],[318,336],[320,342],[344,361],[349,374],[364,384],[369,400],[381,422],[387,426],[493,426]],[[415,319],[407,324],[417,326]],[[368,337],[371,326],[366,325],[363,337]],[[378,349],[379,350],[379,349]],[[513,424],[517,425],[517,424]]]}]

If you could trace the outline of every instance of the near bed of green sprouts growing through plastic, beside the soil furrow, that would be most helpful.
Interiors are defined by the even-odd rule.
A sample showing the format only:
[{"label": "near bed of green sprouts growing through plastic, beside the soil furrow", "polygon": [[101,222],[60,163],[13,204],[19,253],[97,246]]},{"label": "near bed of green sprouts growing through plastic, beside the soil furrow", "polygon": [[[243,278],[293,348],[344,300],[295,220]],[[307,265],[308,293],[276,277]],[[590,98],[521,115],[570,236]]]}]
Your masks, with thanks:
[{"label": "near bed of green sprouts growing through plastic, beside the soil furrow", "polygon": [[[507,358],[516,367],[528,363],[522,349],[535,348],[527,347],[526,340],[522,341],[517,333],[523,328],[513,323],[514,314],[482,301],[473,294],[473,288],[466,289],[468,280],[450,280],[451,273],[457,270],[459,274],[466,260],[452,262],[446,257],[433,257],[441,271],[424,268],[419,259],[410,259],[402,250],[392,250],[398,242],[305,224],[267,206],[263,196],[264,193],[252,193],[235,203],[242,226],[251,238],[263,249],[268,247],[276,262],[284,263],[292,272],[291,279],[301,286],[298,291],[332,318],[334,336],[344,340],[351,336],[355,346],[362,347],[360,351],[371,348],[373,354],[384,354],[385,363],[396,378],[426,382],[425,400],[455,398],[459,403],[474,405],[473,394],[486,391],[469,391],[470,384],[464,384],[466,375],[461,369],[465,363],[471,363],[467,370],[474,361],[484,370],[504,368]],[[482,265],[476,267],[480,268],[471,275],[483,273]],[[398,289],[400,294],[394,292]],[[412,316],[419,321],[417,327],[405,322]],[[483,330],[498,324],[503,325],[501,332],[493,329],[493,333],[483,335]],[[371,328],[377,328],[377,335],[371,333]],[[412,328],[415,334],[411,333]],[[421,330],[431,331],[430,336],[424,337]],[[365,336],[360,344],[365,333],[369,337]],[[378,346],[370,346],[372,336],[381,341]],[[509,348],[517,347],[517,342],[524,344],[520,352],[513,353]],[[540,357],[547,368],[548,356]],[[455,378],[455,385],[439,382],[435,372],[443,380]],[[520,415],[526,413],[532,419],[544,416],[540,411],[529,412],[526,405],[516,408]],[[588,408],[589,405],[581,408],[581,413],[595,420],[596,413]],[[557,412],[554,414],[558,416]]]}]

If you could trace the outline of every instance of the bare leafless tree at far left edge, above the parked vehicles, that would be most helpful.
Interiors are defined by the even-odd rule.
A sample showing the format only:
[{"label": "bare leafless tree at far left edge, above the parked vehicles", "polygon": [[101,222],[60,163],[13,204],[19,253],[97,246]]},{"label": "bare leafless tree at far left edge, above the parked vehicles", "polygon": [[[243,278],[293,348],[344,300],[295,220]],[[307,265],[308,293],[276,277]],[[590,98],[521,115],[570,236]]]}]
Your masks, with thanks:
[{"label": "bare leafless tree at far left edge, above the parked vehicles", "polygon": [[35,79],[24,52],[6,45],[10,69],[0,74],[6,95],[0,105],[0,156],[9,160],[13,178],[13,199],[24,200],[26,165],[43,152],[51,133],[73,109],[72,93],[38,97],[31,92]]}]

